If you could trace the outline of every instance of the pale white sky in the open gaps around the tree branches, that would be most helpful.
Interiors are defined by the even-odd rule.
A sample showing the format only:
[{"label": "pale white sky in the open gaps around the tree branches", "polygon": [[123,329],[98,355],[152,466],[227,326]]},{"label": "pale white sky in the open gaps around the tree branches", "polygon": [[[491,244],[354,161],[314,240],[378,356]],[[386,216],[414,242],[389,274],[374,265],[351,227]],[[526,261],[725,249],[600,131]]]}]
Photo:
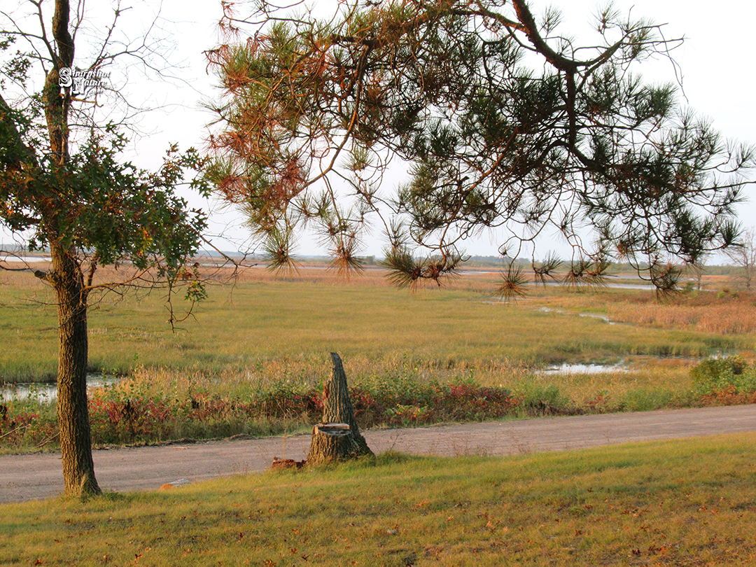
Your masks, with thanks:
[{"label": "pale white sky in the open gaps around the tree branches", "polygon": [[[94,5],[94,2],[91,2]],[[140,29],[151,20],[158,2],[131,3],[124,0],[123,6],[132,5],[125,13],[132,18],[129,26]],[[241,4],[241,2],[240,2]],[[545,4],[531,0],[531,9],[538,14]],[[333,5],[320,0],[318,6]],[[564,14],[564,33],[579,38],[590,33],[587,22],[590,14],[599,5],[595,2],[562,0],[554,2]],[[603,3],[602,3],[603,5]],[[702,2],[702,0],[616,0],[616,8],[623,13],[632,10],[635,17],[649,17],[656,23],[668,23],[665,36],[668,38],[685,36],[686,42],[674,53],[683,74],[683,88],[687,103],[700,115],[710,118],[714,126],[726,138],[736,138],[756,144],[756,112],[754,101],[754,79],[752,63],[751,34],[756,21],[756,3]],[[325,12],[327,8],[319,8]],[[119,84],[125,95],[144,100],[150,107],[156,107],[141,117],[139,127],[147,136],[135,140],[133,155],[129,156],[136,165],[155,167],[160,156],[170,142],[178,142],[182,148],[202,147],[206,138],[206,122],[211,115],[201,109],[200,99],[215,97],[213,79],[206,73],[203,51],[217,45],[216,24],[221,15],[220,2],[213,0],[164,0],[162,16],[162,36],[165,44],[174,47],[171,60],[180,64],[175,70],[185,82],[151,76],[141,78],[137,69],[122,69],[119,62],[111,68],[113,83]],[[105,20],[104,20],[105,23]],[[129,29],[129,28],[127,28]],[[82,39],[77,39],[81,44]],[[77,46],[77,54],[84,51]],[[83,67],[86,60],[79,60]],[[644,70],[647,69],[647,70]],[[644,64],[640,67],[643,76],[655,78],[658,82],[674,80],[673,69],[668,61],[662,64]],[[128,75],[127,75],[128,73]],[[754,201],[756,187],[748,189],[748,199]],[[246,238],[246,230],[241,226],[243,219],[233,211],[222,213],[222,207],[193,199],[194,206],[212,209],[212,228],[215,233],[225,233],[237,240]],[[756,225],[756,206],[753,203],[742,206],[741,222],[745,226]],[[7,237],[3,240],[8,240]],[[299,252],[302,254],[322,254],[324,250],[303,238]],[[368,243],[364,254],[381,255],[382,243]],[[229,248],[229,246],[225,246]],[[544,256],[548,243],[539,246]],[[497,245],[490,237],[482,237],[477,243],[469,243],[467,253],[494,255]],[[557,251],[559,251],[557,249]]]}]

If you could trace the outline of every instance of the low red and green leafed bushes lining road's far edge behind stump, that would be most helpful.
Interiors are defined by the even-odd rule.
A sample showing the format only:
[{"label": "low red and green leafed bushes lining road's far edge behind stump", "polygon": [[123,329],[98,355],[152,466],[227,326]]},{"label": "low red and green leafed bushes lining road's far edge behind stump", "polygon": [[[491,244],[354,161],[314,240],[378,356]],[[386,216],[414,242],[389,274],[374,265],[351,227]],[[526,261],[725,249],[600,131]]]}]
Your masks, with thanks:
[{"label": "low red and green leafed bushes lining road's far edge behind stump", "polygon": [[[323,415],[320,389],[277,386],[266,391],[228,397],[209,392],[149,395],[134,388],[110,387],[89,399],[95,445],[153,443],[178,438],[271,435],[304,429]],[[351,389],[355,417],[361,427],[415,426],[429,423],[488,420],[515,411],[519,399],[503,388],[475,383],[450,385],[392,380]],[[56,445],[54,406],[44,415],[0,408],[0,446]],[[34,444],[34,445],[32,445]]]}]

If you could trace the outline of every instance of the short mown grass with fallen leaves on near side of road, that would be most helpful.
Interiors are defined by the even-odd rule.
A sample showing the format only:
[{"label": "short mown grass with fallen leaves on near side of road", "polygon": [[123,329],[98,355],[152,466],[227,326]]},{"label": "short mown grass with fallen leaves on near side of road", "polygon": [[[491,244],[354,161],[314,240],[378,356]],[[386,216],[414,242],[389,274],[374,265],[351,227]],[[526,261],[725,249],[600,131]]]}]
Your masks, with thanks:
[{"label": "short mown grass with fallen leaves on near side of road", "polygon": [[3,565],[751,565],[756,434],[0,507]]}]

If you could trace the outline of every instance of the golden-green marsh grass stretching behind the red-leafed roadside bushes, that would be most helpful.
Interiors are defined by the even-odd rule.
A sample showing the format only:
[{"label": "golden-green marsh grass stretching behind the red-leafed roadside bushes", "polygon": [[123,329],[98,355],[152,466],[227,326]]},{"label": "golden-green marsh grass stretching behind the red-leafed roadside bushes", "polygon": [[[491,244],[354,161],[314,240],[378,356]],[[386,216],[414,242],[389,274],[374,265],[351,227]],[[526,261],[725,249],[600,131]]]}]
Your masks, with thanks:
[{"label": "golden-green marsh grass stretching behind the red-leafed roadside bushes", "polygon": [[[54,376],[54,308],[45,288],[27,274],[0,277],[7,347],[0,376]],[[528,299],[505,303],[491,296],[496,280],[477,272],[413,295],[390,287],[379,270],[344,281],[322,268],[285,277],[249,268],[231,285],[209,288],[209,299],[173,333],[162,292],[110,293],[91,308],[90,366],[129,374],[147,395],[185,395],[191,383],[233,396],[282,384],[318,387],[330,373],[328,353],[339,352],[352,385],[472,380],[544,404],[556,396],[616,411],[689,404],[688,371],[697,359],[752,353],[753,333],[733,326],[738,314],[745,320],[754,311],[744,294],[699,293],[660,304],[650,291],[534,287]],[[695,321],[681,315],[690,313]],[[717,318],[718,327],[700,324]],[[565,361],[623,361],[630,371],[535,372]]]}]

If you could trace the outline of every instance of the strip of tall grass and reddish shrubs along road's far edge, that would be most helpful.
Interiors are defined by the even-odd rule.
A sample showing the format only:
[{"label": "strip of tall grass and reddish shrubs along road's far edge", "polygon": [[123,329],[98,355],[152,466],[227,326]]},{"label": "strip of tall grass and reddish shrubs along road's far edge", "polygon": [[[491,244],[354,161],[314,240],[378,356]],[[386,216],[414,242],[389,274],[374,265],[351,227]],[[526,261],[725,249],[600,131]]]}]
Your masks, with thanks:
[{"label": "strip of tall grass and reddish shrubs along road's far edge", "polygon": [[[371,428],[699,404],[688,365],[672,362],[553,375],[506,360],[469,364],[355,356],[345,369],[358,423]],[[259,360],[219,373],[138,367],[90,389],[93,442],[131,445],[303,432],[321,420],[322,385],[330,372],[330,364],[315,357]],[[57,448],[55,432],[54,404],[11,399],[0,407],[0,451]]]}]

